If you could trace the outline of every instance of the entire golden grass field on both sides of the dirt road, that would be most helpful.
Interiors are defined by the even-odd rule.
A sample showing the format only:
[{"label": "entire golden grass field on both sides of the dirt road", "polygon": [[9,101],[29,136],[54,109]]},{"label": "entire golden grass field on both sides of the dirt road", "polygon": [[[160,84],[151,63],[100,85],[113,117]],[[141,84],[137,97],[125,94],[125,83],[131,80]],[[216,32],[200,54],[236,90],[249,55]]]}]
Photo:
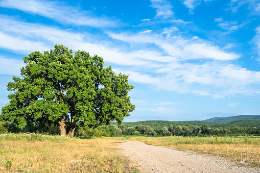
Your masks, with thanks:
[{"label": "entire golden grass field on both sides of the dirt road", "polygon": [[151,145],[228,158],[260,167],[260,138],[118,137],[78,139],[40,134],[0,134],[0,172],[139,172],[117,152],[117,142]]}]

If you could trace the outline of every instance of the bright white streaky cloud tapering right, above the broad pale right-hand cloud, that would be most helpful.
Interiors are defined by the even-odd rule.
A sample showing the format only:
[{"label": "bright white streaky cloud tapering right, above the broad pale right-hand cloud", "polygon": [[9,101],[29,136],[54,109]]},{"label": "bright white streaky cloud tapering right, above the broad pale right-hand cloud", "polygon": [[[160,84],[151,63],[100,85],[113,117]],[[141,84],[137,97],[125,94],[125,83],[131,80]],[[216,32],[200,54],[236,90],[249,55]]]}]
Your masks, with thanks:
[{"label": "bright white streaky cloud tapering right, above the broad pale right-hand cloud", "polygon": [[129,43],[152,43],[164,50],[172,60],[188,60],[188,59],[215,59],[215,60],[234,60],[240,58],[240,55],[223,51],[217,46],[201,39],[184,39],[182,37],[171,37],[164,39],[158,35],[140,35],[125,33],[115,34],[109,33],[113,39],[122,40]]}]

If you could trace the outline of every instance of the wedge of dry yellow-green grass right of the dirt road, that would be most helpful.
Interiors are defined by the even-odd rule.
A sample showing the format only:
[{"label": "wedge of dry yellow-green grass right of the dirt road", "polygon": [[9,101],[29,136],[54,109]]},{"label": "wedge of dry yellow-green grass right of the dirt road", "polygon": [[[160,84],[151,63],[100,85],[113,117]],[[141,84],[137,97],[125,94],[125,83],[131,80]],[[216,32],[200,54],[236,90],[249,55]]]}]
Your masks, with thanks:
[{"label": "wedge of dry yellow-green grass right of the dirt road", "polygon": [[260,138],[235,137],[139,137],[151,145],[221,156],[246,166],[260,167]]}]

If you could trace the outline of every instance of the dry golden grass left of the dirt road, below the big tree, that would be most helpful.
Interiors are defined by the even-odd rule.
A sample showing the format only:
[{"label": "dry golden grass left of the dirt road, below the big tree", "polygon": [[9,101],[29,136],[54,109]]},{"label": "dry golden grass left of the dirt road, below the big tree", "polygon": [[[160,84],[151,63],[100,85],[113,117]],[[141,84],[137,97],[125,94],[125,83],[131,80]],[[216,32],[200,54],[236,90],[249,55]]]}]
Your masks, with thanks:
[{"label": "dry golden grass left of the dirt road, below the big tree", "polygon": [[0,172],[138,172],[112,146],[115,142],[122,140],[39,141],[0,136]]}]

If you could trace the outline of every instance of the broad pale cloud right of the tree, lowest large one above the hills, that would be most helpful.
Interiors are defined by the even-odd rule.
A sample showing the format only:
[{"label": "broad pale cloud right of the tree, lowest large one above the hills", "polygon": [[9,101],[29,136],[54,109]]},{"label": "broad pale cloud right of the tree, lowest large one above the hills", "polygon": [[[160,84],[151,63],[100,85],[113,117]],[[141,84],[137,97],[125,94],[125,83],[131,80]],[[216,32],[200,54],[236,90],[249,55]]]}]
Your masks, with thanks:
[{"label": "broad pale cloud right of the tree, lowest large one above the hills", "polygon": [[249,71],[235,65],[224,65],[218,62],[208,62],[201,65],[171,63],[159,68],[154,75],[144,75],[140,72],[116,69],[129,75],[131,82],[155,86],[157,89],[192,92],[196,95],[208,95],[223,98],[227,95],[248,94],[258,95],[260,71]]}]

